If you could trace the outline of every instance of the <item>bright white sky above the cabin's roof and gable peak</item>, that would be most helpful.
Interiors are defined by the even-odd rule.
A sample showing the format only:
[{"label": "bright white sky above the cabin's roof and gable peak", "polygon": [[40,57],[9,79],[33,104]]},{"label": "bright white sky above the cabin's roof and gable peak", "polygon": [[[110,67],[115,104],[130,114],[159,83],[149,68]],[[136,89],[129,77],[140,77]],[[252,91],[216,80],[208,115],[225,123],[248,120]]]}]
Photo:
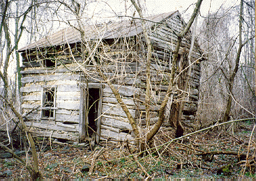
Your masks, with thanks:
[{"label": "bright white sky above the cabin's roof and gable peak", "polygon": [[[96,9],[93,8],[94,12],[100,10],[99,16],[107,16],[109,15],[107,12],[112,10],[116,13],[124,12],[131,4],[130,0],[106,0],[105,2],[98,3]],[[179,10],[185,20],[193,13],[196,2],[197,0],[141,0],[142,6],[144,5],[144,15],[156,15]],[[218,10],[220,6],[228,8],[235,4],[238,5],[239,2],[240,0],[203,0],[200,12],[206,16],[209,12]]]}]

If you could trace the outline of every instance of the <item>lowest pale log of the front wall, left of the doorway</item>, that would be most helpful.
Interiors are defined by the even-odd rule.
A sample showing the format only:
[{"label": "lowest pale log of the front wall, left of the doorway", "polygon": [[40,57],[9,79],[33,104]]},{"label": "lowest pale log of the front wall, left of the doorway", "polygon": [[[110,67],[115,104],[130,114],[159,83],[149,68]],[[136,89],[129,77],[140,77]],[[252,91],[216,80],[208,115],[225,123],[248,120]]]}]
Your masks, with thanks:
[{"label": "lowest pale log of the front wall, left of the doorway", "polygon": [[30,130],[32,136],[36,137],[51,137],[55,139],[67,139],[70,141],[78,141],[78,136],[73,136],[66,133],[56,133],[56,132],[47,132],[47,131],[38,131],[38,130]]}]

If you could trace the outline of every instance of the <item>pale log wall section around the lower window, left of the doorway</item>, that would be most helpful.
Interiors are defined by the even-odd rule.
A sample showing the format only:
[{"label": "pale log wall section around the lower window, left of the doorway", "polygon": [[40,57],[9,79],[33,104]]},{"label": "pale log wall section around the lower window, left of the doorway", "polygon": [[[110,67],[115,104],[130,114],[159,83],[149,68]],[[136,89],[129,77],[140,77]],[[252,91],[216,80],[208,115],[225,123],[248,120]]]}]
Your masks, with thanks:
[{"label": "pale log wall section around the lower window, left of the doorway", "polygon": [[[52,135],[52,138],[77,141],[80,106],[80,88],[77,81],[80,81],[81,76],[68,72],[43,75],[42,70],[26,70],[22,74],[22,109],[26,112],[38,107],[27,116],[30,121],[26,124],[29,127],[33,124],[31,132],[37,135],[45,132],[45,135]],[[57,89],[54,120],[41,119],[40,116],[42,91],[46,87]]]}]

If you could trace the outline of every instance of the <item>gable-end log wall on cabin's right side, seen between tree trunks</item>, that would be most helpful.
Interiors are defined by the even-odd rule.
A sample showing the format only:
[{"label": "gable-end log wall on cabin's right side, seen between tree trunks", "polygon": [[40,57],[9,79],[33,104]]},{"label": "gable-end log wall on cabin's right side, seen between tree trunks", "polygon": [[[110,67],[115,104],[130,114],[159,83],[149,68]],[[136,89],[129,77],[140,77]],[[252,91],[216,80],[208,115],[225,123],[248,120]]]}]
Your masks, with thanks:
[{"label": "gable-end log wall on cabin's right side, seen between tree trunks", "polygon": [[[183,20],[179,15],[167,19],[161,24],[154,26],[154,29],[149,33],[149,38],[153,43],[153,58],[151,60],[151,84],[152,84],[152,98],[151,98],[151,119],[156,119],[158,117],[158,108],[163,100],[164,95],[167,91],[167,85],[169,84],[169,74],[170,72],[170,61],[172,60],[172,52],[175,49],[177,42],[177,34],[181,32],[185,26]],[[190,33],[188,33],[187,38],[184,38],[181,42],[180,54],[188,52],[190,47]],[[143,53],[143,52],[142,52]],[[146,50],[144,51],[144,57],[146,57]],[[199,100],[199,79],[200,79],[200,60],[202,60],[202,54],[199,52],[199,46],[195,43],[193,47],[192,54],[192,72],[190,74],[189,81],[189,95],[187,97],[186,104],[183,109],[182,120],[183,123],[188,127],[193,127],[193,123],[197,111],[197,102]],[[179,63],[178,63],[179,65]],[[179,74],[179,71],[177,72]],[[146,82],[145,70],[142,70],[142,82]],[[154,88],[162,86],[165,88]],[[145,90],[145,86],[140,86],[140,88]],[[178,87],[179,88],[179,87]],[[173,95],[176,95],[175,91]],[[140,98],[142,102],[144,97]],[[170,102],[172,97],[170,98]],[[141,119],[144,120],[145,107],[139,107]],[[168,113],[170,113],[170,105],[166,109],[166,121],[168,120]],[[152,123],[154,123],[152,121]]]}]

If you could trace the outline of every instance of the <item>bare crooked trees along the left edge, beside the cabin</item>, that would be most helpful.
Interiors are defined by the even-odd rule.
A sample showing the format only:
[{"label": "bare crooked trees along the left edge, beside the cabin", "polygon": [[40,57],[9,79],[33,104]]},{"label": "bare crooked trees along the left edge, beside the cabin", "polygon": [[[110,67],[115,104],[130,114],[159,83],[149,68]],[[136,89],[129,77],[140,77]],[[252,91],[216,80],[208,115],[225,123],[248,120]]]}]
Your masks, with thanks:
[{"label": "bare crooked trees along the left edge, beside the cabin", "polygon": [[[33,1],[31,4],[29,4],[28,8],[25,8],[22,13],[19,13],[19,1],[15,2],[16,3],[16,11],[13,13],[11,12],[11,6],[13,5],[13,1],[1,1],[1,25],[0,25],[0,37],[1,37],[1,54],[6,52],[6,57],[1,59],[1,67],[3,68],[3,72],[0,71],[0,77],[1,81],[3,81],[3,88],[5,90],[5,93],[3,96],[1,96],[1,100],[3,103],[6,103],[6,111],[10,109],[11,115],[13,115],[15,118],[13,120],[15,121],[15,124],[17,127],[20,128],[22,131],[22,134],[24,136],[27,136],[27,141],[29,145],[31,146],[31,152],[32,152],[32,162],[27,162],[15,155],[14,151],[8,148],[6,145],[3,145],[1,143],[1,147],[4,148],[6,151],[10,152],[13,154],[15,159],[17,159],[17,162],[20,162],[20,164],[26,166],[27,170],[29,171],[31,175],[32,180],[40,179],[40,171],[38,168],[38,157],[36,153],[36,147],[33,142],[33,138],[31,134],[29,133],[29,129],[24,125],[24,120],[22,118],[22,115],[19,113],[19,109],[15,108],[15,102],[14,102],[14,97],[13,92],[10,88],[10,79],[8,76],[8,68],[9,68],[9,63],[10,63],[10,57],[13,54],[13,52],[17,51],[18,44],[20,42],[20,39],[22,37],[22,32],[24,31],[24,22],[27,19],[27,15],[30,12],[31,8],[33,7]],[[27,5],[27,4],[26,4]],[[14,19],[15,21],[15,32],[10,31],[10,22],[12,22]],[[11,36],[14,35],[14,41],[12,41]],[[2,43],[3,42],[3,43]],[[20,86],[21,86],[21,77],[20,77],[20,57],[17,52],[15,52],[15,56],[17,58],[17,82],[18,82],[18,91],[20,91]],[[3,105],[1,105],[1,109],[3,109]],[[8,124],[8,123],[7,123]],[[9,130],[6,130],[9,132]]]}]

